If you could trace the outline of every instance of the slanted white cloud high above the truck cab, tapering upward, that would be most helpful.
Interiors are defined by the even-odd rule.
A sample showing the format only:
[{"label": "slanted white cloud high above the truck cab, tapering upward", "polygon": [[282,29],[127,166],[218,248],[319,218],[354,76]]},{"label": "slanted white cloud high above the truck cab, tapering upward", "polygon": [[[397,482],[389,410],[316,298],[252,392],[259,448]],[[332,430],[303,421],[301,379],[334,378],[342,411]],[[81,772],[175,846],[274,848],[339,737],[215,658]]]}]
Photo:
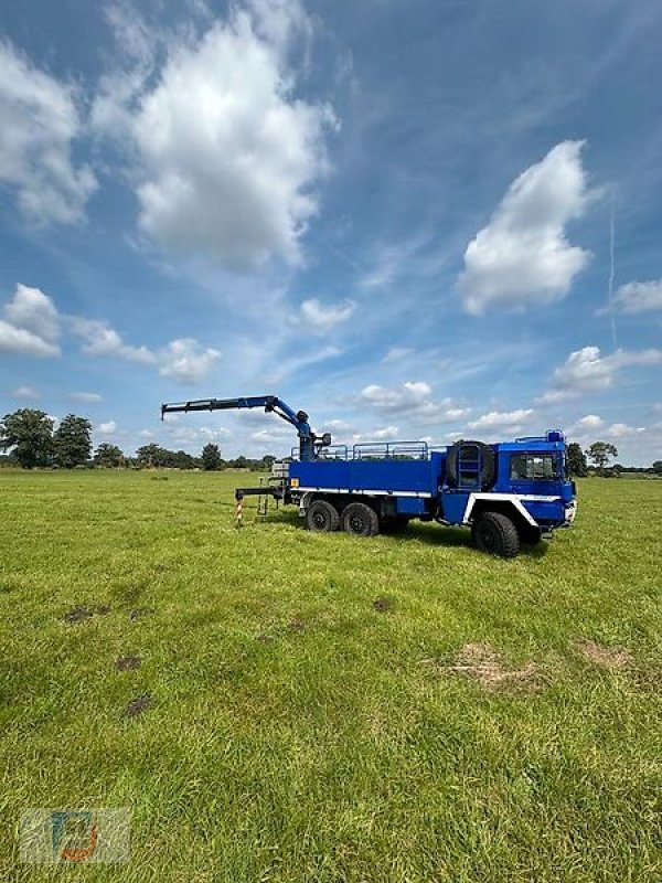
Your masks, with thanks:
[{"label": "slanted white cloud high above the truck cab, tapering upward", "polygon": [[581,141],[563,141],[526,169],[469,243],[458,281],[468,312],[549,304],[568,292],[590,257],[565,235],[589,196],[581,147]]}]

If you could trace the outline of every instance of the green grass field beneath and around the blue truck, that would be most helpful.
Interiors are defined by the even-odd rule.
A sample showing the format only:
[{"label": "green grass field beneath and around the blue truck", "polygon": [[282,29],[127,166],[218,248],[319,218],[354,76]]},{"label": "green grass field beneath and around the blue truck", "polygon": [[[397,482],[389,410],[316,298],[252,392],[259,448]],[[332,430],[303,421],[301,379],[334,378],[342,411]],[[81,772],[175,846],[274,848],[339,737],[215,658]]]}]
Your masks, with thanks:
[{"label": "green grass field beneath and around the blue truck", "polygon": [[[502,561],[158,478],[0,474],[0,880],[660,879],[662,482]],[[130,808],[130,862],[21,864],[28,807]]]}]

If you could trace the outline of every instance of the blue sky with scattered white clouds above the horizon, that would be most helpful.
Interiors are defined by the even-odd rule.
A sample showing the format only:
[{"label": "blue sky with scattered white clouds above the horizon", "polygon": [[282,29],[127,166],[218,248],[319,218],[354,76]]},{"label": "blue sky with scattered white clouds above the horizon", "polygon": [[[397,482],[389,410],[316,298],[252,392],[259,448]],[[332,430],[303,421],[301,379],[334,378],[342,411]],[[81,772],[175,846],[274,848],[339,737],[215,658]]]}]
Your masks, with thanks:
[{"label": "blue sky with scattered white clouds above the horizon", "polygon": [[653,0],[6,3],[0,412],[662,458]]}]

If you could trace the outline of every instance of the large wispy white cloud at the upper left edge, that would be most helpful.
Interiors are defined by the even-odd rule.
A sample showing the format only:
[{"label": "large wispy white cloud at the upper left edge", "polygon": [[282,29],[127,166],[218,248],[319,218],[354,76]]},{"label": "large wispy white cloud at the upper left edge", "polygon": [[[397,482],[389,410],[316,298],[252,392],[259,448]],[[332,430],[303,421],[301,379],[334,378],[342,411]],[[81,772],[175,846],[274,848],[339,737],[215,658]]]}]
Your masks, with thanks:
[{"label": "large wispy white cloud at the upper left edge", "polygon": [[96,188],[90,169],[72,161],[82,127],[75,89],[0,43],[0,181],[40,224],[78,221]]}]

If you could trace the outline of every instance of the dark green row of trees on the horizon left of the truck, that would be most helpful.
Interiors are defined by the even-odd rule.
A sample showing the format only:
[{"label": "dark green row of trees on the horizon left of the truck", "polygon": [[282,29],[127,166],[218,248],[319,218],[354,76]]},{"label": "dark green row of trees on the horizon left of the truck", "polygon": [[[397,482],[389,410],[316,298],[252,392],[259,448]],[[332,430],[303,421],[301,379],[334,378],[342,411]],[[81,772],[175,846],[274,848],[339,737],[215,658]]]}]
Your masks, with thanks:
[{"label": "dark green row of trees on the horizon left of the truck", "polygon": [[224,460],[218,446],[212,443],[203,447],[199,457],[185,450],[169,450],[156,444],[139,447],[134,456],[127,456],[121,448],[109,442],[103,442],[94,453],[92,447],[92,423],[75,414],[63,417],[57,428],[53,417],[32,408],[20,408],[12,414],[6,414],[0,421],[0,450],[10,451],[2,459],[23,469],[132,467],[207,471],[235,468],[261,471],[270,469],[276,459],[267,455],[261,459],[241,456],[234,460]]}]

